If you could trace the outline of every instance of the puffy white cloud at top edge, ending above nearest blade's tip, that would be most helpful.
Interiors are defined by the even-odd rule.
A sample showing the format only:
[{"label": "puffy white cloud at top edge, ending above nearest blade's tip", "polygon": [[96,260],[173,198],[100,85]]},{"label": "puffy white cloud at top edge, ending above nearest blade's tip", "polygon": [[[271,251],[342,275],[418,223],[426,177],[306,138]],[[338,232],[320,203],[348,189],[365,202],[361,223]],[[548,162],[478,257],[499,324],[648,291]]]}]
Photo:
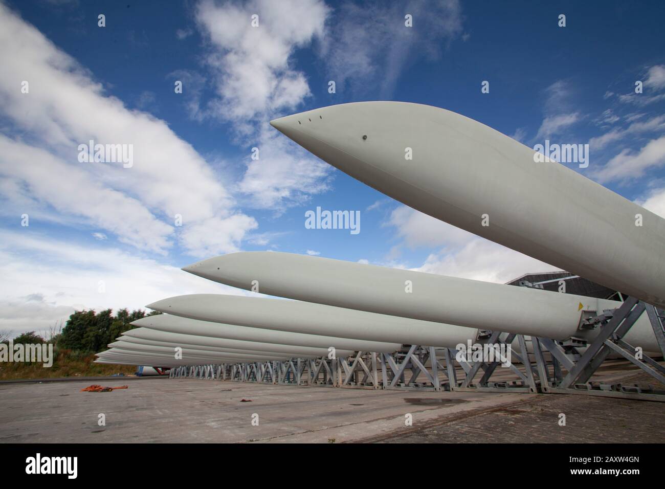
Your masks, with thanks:
[{"label": "puffy white cloud at top edge, ending above nearest blade's tip", "polygon": [[[323,35],[327,13],[320,0],[201,1],[196,21],[211,44],[207,63],[217,75],[213,112],[251,122],[300,104],[309,86],[291,67],[291,55]],[[252,15],[259,16],[258,27],[252,27]]]}]

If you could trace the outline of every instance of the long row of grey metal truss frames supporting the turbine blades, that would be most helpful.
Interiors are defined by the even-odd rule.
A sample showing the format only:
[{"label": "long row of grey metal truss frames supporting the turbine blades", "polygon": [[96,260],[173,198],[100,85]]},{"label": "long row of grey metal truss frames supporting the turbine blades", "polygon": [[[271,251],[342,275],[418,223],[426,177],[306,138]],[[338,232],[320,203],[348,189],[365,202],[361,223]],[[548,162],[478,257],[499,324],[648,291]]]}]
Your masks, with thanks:
[{"label": "long row of grey metal truss frames supporting the turbine blades", "polygon": [[[590,381],[610,354],[618,354],[656,381],[665,383],[665,367],[644,353],[640,358],[636,355],[636,349],[623,339],[645,311],[665,357],[665,312],[634,297],[627,297],[617,309],[603,311],[602,314],[587,311],[587,315],[583,315],[582,328],[599,328],[599,334],[590,343],[575,337],[555,341],[482,331],[477,341],[490,343],[495,349],[501,345],[508,347],[517,340],[519,352],[511,351],[511,358],[515,361],[507,367],[515,374],[515,381],[491,380],[501,365],[500,360],[467,361],[458,358],[459,352],[454,348],[437,349],[421,345],[405,345],[392,354],[356,351],[345,359],[292,358],[285,361],[174,367],[169,377],[356,389],[582,394],[665,402],[665,391],[651,386]],[[529,356],[527,342],[531,343],[535,363]],[[582,352],[581,348],[586,350]],[[445,365],[437,358],[438,351],[444,353]],[[549,361],[548,355],[551,355]],[[428,361],[429,369],[426,367]],[[515,363],[521,364],[521,368]],[[461,375],[458,376],[458,373]],[[440,379],[440,374],[443,379]],[[424,377],[424,382],[418,381],[420,375]],[[479,375],[479,380],[475,381]]]}]

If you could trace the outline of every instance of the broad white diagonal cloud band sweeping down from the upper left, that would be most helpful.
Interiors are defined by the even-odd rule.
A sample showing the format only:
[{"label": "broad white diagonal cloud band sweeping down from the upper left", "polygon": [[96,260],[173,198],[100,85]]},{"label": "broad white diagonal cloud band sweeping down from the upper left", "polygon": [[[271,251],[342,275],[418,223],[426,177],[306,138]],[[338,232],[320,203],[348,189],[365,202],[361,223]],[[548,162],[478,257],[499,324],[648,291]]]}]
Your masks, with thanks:
[{"label": "broad white diagonal cloud band sweeping down from the upper left", "polygon": [[[227,228],[241,226],[234,228],[234,241],[225,246],[229,251],[255,227],[252,218],[242,214],[238,218],[235,201],[223,183],[164,121],[128,110],[120,100],[107,96],[88,71],[1,4],[0,44],[0,113],[15,124],[23,138],[3,138],[3,144],[13,148],[15,158],[32,152],[39,159],[31,164],[34,168],[26,169],[19,168],[15,158],[0,154],[3,176],[10,180],[5,188],[15,193],[25,190],[23,200],[43,200],[55,212],[82,216],[86,224],[104,228],[122,242],[161,253],[172,245],[176,214],[183,216],[185,224],[178,236],[190,252],[208,248],[196,243],[201,234],[190,225],[214,218]],[[27,94],[21,92],[23,81],[29,82]],[[131,144],[134,165],[79,163],[77,147],[88,140]],[[40,168],[39,176],[36,168]],[[39,185],[40,178],[75,181],[81,198],[30,194],[26,189]],[[103,192],[102,198],[94,198],[94,188]],[[50,193],[64,193],[55,190]],[[217,247],[217,251],[225,249]]]}]

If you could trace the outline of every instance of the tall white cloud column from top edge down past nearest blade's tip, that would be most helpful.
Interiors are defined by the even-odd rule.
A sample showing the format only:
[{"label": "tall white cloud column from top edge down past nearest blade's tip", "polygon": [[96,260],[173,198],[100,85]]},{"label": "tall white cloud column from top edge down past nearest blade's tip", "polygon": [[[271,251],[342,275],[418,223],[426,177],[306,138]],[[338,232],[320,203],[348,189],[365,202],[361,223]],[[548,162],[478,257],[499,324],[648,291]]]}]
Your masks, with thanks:
[{"label": "tall white cloud column from top edge down past nearest blade's tip", "polygon": [[[268,124],[311,95],[305,73],[293,67],[293,54],[324,35],[328,13],[321,0],[203,0],[196,8],[196,21],[209,43],[206,64],[215,96],[203,108],[191,105],[190,112],[199,120],[232,122],[239,144],[259,148],[259,160],[248,158],[236,187],[249,207],[279,215],[329,190],[331,168]],[[252,27],[252,15],[259,16],[258,27]]]}]

